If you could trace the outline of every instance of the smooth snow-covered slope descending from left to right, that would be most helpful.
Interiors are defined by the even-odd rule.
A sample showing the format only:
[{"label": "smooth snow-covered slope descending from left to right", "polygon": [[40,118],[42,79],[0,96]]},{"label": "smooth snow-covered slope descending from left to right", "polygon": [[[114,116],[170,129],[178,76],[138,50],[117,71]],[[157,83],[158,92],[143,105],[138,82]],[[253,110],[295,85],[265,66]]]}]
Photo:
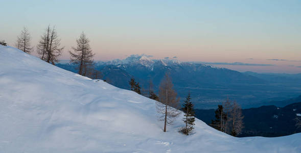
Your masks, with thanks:
[{"label": "smooth snow-covered slope descending from left to right", "polygon": [[0,152],[301,152],[301,134],[234,138],[196,120],[168,132],[155,101],[0,46]]}]

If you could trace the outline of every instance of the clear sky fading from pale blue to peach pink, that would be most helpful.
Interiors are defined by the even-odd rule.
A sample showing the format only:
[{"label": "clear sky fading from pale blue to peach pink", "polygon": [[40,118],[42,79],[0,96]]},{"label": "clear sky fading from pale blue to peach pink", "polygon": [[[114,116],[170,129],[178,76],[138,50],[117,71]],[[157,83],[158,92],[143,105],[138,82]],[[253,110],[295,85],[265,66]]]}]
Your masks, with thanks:
[{"label": "clear sky fading from pale blue to peach pink", "polygon": [[0,0],[0,4],[0,40],[13,45],[25,26],[36,45],[47,25],[55,25],[65,46],[61,59],[69,58],[67,51],[84,31],[95,60],[147,54],[154,59],[176,56],[180,61],[273,65],[230,66],[240,71],[301,73],[301,1]]}]

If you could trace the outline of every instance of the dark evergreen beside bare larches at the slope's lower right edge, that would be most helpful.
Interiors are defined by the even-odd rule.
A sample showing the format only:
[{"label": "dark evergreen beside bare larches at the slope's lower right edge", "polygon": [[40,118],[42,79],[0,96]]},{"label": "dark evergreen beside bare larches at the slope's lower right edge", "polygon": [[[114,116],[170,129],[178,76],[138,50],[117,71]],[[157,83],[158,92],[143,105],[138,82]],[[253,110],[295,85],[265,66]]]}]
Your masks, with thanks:
[{"label": "dark evergreen beside bare larches at the slope's lower right edge", "polygon": [[215,120],[211,121],[211,125],[216,129],[221,132],[225,131],[225,122],[227,121],[227,115],[223,111],[223,106],[218,105],[218,109],[215,111]]}]

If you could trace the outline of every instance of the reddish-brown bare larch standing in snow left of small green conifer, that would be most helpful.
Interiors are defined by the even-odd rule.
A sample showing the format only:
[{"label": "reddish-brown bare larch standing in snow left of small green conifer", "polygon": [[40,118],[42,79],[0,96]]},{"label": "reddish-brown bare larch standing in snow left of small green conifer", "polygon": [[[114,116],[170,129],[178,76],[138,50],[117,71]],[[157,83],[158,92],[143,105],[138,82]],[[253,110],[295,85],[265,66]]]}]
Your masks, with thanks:
[{"label": "reddish-brown bare larch standing in snow left of small green conifer", "polygon": [[177,108],[179,108],[179,98],[173,89],[169,73],[166,73],[159,86],[159,101],[156,102],[157,112],[161,114],[159,120],[164,121],[164,132],[166,132],[167,124],[172,124],[180,114]]}]

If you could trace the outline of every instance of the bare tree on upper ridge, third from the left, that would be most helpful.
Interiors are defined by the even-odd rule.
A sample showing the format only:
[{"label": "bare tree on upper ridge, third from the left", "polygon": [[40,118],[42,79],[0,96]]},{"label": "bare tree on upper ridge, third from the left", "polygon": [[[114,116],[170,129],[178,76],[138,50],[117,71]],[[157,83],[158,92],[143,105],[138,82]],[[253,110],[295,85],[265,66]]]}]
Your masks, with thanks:
[{"label": "bare tree on upper ridge, third from the left", "polygon": [[70,53],[71,62],[78,65],[78,74],[87,76],[94,70],[93,57],[95,54],[92,53],[89,39],[86,37],[84,32],[81,33],[79,38],[76,40],[77,47],[72,47],[74,52]]}]

